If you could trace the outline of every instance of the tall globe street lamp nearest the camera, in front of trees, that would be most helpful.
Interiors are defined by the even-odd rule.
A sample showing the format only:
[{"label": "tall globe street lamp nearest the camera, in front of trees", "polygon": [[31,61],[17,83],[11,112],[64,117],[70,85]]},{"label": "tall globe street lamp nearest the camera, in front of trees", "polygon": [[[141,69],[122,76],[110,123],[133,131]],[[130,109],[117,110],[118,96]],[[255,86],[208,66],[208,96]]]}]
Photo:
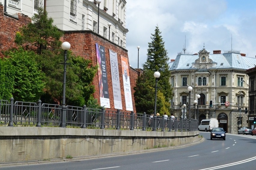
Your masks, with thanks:
[{"label": "tall globe street lamp nearest the camera, in front of trees", "polygon": [[63,94],[62,94],[62,105],[61,105],[61,111],[62,111],[62,121],[60,124],[60,127],[66,128],[66,112],[67,112],[67,107],[66,107],[66,62],[67,62],[67,51],[70,49],[70,44],[69,42],[63,42],[61,44],[61,48],[64,50],[64,73],[63,73]]}]

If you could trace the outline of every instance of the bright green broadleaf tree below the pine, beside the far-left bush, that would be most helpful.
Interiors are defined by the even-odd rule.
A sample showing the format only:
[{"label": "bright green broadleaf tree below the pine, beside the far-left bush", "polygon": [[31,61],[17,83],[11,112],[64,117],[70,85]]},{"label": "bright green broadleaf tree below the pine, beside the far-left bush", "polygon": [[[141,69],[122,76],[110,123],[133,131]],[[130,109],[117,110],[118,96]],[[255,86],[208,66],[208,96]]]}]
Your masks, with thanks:
[{"label": "bright green broadleaf tree below the pine, beside the far-left bush", "polygon": [[35,61],[36,54],[33,51],[24,51],[23,48],[13,49],[5,54],[6,60],[14,67],[12,91],[14,99],[36,102],[43,93],[45,85],[44,73]]}]

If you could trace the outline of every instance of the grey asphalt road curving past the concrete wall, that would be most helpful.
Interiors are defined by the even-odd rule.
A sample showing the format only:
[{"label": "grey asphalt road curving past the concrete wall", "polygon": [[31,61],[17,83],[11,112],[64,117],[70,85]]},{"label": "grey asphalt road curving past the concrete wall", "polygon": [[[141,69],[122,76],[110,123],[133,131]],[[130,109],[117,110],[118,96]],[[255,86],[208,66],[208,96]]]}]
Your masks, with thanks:
[{"label": "grey asphalt road curving past the concrete wall", "polygon": [[[256,169],[256,136],[227,134],[226,140],[210,140],[209,132],[200,132],[204,140],[183,148],[166,148],[123,156],[76,160],[58,163],[43,163],[26,166],[3,167],[0,169],[54,169],[54,170],[241,170]],[[219,167],[218,167],[219,166]]]}]

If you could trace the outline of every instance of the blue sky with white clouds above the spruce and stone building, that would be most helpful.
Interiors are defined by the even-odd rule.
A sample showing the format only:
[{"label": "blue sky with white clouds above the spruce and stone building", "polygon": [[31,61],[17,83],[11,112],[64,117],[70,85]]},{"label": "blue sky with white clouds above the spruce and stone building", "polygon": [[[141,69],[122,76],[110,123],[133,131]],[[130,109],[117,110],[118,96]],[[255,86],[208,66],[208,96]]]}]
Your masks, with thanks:
[{"label": "blue sky with white clouds above the spruce and stone building", "polygon": [[[256,55],[256,1],[254,0],[126,0],[126,49],[130,66],[142,68],[148,42],[156,26],[169,59],[186,48],[198,53],[239,50]],[[186,38],[185,38],[186,37]]]}]

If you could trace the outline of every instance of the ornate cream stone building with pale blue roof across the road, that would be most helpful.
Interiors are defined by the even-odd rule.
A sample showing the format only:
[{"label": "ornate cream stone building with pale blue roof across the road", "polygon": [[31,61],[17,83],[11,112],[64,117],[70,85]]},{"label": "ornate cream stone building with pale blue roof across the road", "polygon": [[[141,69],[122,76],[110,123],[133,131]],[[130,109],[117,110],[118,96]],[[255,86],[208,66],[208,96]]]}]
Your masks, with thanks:
[{"label": "ornate cream stone building with pale blue roof across the road", "polygon": [[[174,94],[172,112],[176,117],[183,118],[183,112],[187,110],[185,116],[191,116],[191,119],[197,119],[198,112],[199,122],[215,118],[219,127],[227,133],[237,133],[239,126],[249,125],[246,110],[249,106],[249,76],[245,71],[254,67],[255,63],[256,58],[245,57],[236,50],[224,53],[216,50],[210,54],[203,48],[198,54],[179,53],[169,63]],[[193,88],[190,100],[188,86]],[[200,95],[199,99],[197,95]],[[185,109],[183,104],[186,104]]]}]

